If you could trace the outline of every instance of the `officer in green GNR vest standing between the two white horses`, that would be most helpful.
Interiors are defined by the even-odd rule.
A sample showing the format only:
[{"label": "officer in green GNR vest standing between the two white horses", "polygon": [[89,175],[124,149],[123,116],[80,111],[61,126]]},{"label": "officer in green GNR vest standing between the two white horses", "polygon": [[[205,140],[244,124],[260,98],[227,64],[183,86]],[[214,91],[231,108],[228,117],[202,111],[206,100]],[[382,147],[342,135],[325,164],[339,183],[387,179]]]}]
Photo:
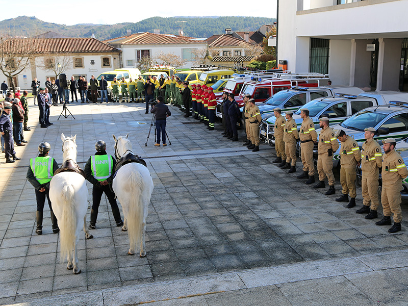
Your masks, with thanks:
[{"label": "officer in green GNR vest standing between the two white horses", "polygon": [[96,219],[98,217],[98,209],[100,199],[105,192],[106,197],[112,208],[112,214],[116,222],[116,226],[122,226],[123,221],[120,217],[120,211],[115,199],[115,193],[111,189],[113,174],[115,169],[115,159],[106,153],[106,143],[99,140],[95,143],[96,153],[91,156],[85,165],[86,179],[92,183],[92,209],[91,222],[88,226],[90,230],[95,230]]}]

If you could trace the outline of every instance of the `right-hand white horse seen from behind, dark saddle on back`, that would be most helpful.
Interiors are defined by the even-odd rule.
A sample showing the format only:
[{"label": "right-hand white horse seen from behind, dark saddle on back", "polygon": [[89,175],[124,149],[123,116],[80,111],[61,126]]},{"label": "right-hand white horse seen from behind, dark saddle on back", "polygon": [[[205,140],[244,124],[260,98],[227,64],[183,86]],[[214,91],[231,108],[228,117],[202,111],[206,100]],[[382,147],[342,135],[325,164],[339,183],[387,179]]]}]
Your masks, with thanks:
[{"label": "right-hand white horse seen from behind, dark saddle on back", "polygon": [[[128,136],[129,134],[116,138],[113,135],[117,159],[127,153],[133,153],[132,143],[127,139]],[[154,187],[150,172],[139,163],[125,164],[117,171],[112,187],[123,209],[122,231],[127,231],[130,244],[127,253],[133,255],[140,242],[139,254],[140,257],[145,257],[144,233],[146,231],[147,207]]]}]

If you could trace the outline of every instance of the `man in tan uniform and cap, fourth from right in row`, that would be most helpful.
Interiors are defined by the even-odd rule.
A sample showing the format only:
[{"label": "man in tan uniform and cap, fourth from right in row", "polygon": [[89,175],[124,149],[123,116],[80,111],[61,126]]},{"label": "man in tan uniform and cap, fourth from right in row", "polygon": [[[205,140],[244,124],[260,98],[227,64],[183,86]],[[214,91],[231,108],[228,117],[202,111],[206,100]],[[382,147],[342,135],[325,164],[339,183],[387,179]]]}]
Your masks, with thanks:
[{"label": "man in tan uniform and cap, fourth from right in row", "polygon": [[335,176],[333,174],[333,153],[339,148],[339,141],[335,136],[335,132],[328,126],[328,118],[320,118],[320,135],[319,146],[317,152],[319,157],[317,159],[317,172],[319,174],[319,183],[313,188],[324,188],[324,177],[327,176],[328,190],[325,195],[335,194]]}]

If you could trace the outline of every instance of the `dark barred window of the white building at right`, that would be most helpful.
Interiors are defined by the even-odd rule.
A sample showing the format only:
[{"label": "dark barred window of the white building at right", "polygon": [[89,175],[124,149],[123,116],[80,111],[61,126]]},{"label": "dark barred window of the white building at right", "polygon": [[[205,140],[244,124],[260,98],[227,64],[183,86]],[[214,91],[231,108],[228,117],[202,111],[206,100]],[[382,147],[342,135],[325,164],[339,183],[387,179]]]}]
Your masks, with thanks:
[{"label": "dark barred window of the white building at right", "polygon": [[310,39],[310,62],[309,72],[328,72],[328,39]]}]

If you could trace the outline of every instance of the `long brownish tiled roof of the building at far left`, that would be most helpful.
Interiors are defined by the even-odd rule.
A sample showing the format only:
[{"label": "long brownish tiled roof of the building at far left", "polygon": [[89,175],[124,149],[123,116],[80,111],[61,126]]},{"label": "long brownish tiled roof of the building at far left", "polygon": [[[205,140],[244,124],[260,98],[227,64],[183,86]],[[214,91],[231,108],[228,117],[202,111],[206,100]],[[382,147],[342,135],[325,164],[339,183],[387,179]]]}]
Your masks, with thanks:
[{"label": "long brownish tiled roof of the building at far left", "polygon": [[6,52],[32,54],[119,53],[119,50],[95,38],[22,38],[7,39],[0,44]]}]

